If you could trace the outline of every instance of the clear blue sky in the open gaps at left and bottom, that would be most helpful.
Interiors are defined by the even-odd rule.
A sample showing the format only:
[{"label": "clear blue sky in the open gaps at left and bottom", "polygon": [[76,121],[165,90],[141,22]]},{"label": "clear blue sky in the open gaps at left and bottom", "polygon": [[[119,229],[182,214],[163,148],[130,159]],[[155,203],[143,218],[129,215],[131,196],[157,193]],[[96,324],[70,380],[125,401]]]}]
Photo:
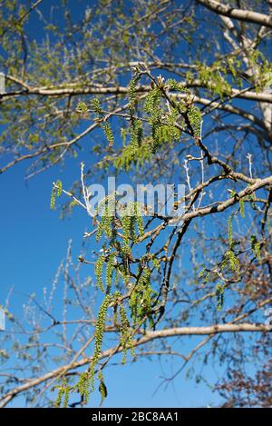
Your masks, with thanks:
[{"label": "clear blue sky in the open gaps at left and bottom", "polygon": [[[30,26],[30,30],[36,34],[36,24]],[[67,160],[64,167],[54,166],[27,182],[24,181],[25,169],[29,165],[27,162],[17,164],[0,175],[0,304],[5,305],[5,299],[13,289],[11,312],[20,315],[25,302],[22,293],[35,293],[37,300],[42,300],[43,289],[53,281],[70,239],[73,240],[75,262],[82,251],[83,233],[91,230],[87,215],[80,209],[74,209],[71,217],[60,220],[60,212],[49,208],[53,181],[61,179],[64,187],[69,188],[79,178],[82,159],[86,165],[91,163],[87,149],[79,158]],[[86,273],[93,277],[92,268]],[[181,344],[182,353],[188,353],[192,347],[189,339],[184,339]],[[186,378],[187,369],[167,389],[161,387],[154,394],[161,376],[165,372],[170,375],[172,369],[176,370],[179,366],[180,361],[177,360],[166,362],[154,358],[152,361],[108,368],[105,380],[109,396],[104,406],[200,407],[216,405],[221,401],[219,395],[204,383],[197,385],[194,380]],[[222,369],[216,365],[206,367],[210,381],[216,381],[219,372]],[[19,398],[13,405],[22,406],[23,403],[23,399]],[[97,406],[98,403],[99,395],[96,393],[90,404]]]}]

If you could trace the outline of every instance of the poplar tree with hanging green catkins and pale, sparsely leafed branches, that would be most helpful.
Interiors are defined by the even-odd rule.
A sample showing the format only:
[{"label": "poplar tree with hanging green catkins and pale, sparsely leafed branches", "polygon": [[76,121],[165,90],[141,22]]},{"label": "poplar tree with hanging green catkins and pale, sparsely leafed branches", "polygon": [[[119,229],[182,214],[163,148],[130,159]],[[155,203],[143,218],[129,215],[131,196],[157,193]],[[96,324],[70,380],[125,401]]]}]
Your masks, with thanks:
[{"label": "poplar tree with hanging green catkins and pale, sparsely leafed branches", "polygon": [[[20,339],[5,310],[0,406],[92,406],[112,359],[142,356],[176,358],[165,381],[183,368],[207,381],[217,362],[228,406],[248,394],[271,405],[271,2],[100,0],[77,14],[64,0],[0,3],[0,173],[73,163],[78,180],[53,183],[48,208],[92,216],[86,253],[68,247],[51,289],[63,280],[63,319],[30,296],[38,321]],[[182,222],[137,203],[112,216],[109,198],[91,214],[88,185],[121,173],[185,183]],[[172,337],[195,345],[183,353]]]}]

